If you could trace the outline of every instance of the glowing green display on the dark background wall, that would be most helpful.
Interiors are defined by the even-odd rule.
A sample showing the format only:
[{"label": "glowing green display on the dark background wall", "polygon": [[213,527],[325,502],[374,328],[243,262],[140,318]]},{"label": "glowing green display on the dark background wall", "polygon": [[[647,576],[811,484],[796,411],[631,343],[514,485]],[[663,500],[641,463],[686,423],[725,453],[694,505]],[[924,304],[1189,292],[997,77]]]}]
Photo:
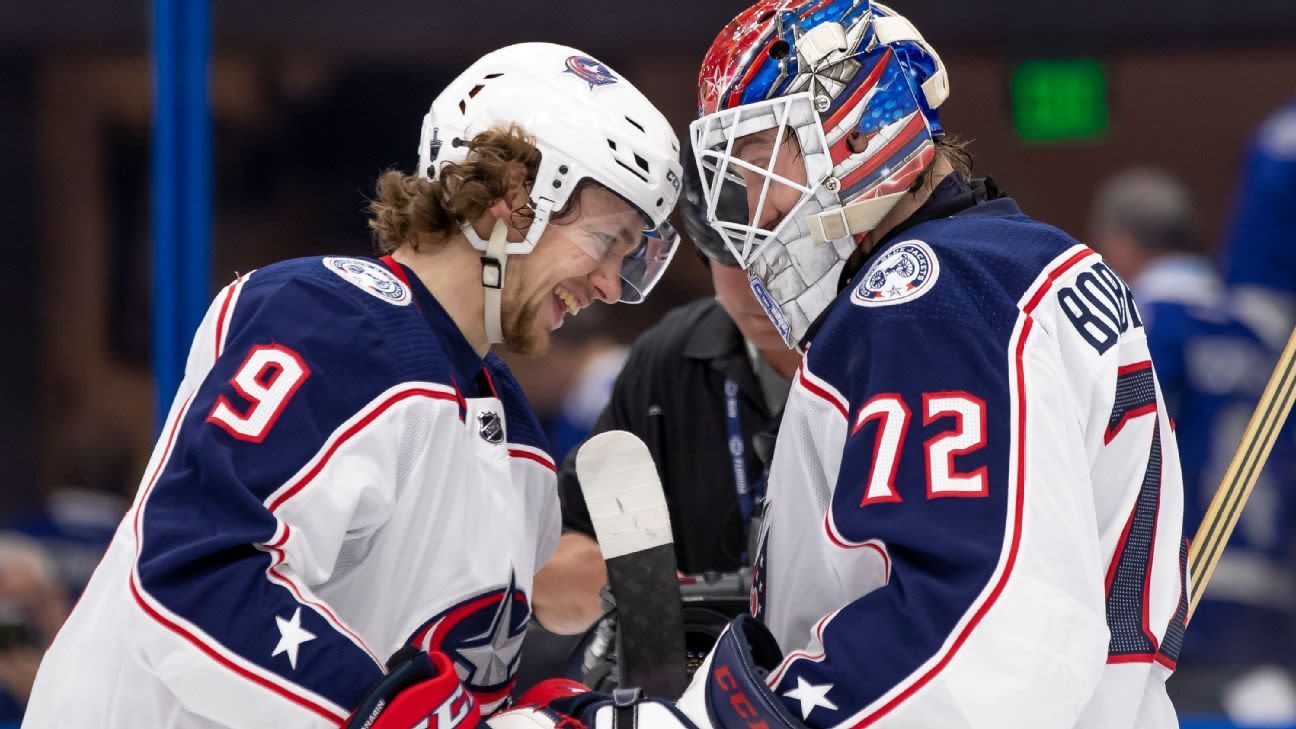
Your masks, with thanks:
[{"label": "glowing green display on the dark background wall", "polygon": [[1026,141],[1095,140],[1107,131],[1107,71],[1096,60],[1024,61],[1012,71],[1010,97]]}]

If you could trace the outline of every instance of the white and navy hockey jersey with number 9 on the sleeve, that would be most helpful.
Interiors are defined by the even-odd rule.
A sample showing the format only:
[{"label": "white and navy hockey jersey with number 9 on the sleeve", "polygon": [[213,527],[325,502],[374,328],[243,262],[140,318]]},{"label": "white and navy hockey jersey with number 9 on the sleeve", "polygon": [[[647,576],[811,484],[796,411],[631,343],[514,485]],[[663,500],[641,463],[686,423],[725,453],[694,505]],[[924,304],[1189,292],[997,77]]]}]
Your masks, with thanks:
[{"label": "white and navy hockey jersey with number 9 on the sleeve", "polygon": [[410,642],[491,711],[559,536],[542,445],[395,261],[238,279],[23,726],[334,728]]}]

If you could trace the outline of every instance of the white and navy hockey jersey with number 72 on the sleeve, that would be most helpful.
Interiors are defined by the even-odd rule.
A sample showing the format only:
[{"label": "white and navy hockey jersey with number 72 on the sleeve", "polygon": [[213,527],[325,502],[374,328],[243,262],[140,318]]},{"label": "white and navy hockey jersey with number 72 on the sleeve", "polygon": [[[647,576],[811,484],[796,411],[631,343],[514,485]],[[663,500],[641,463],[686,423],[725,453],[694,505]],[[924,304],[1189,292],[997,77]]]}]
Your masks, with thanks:
[{"label": "white and navy hockey jersey with number 72 on the sleeve", "polygon": [[778,700],[735,699],[743,667],[714,664],[706,721],[1178,726],[1182,483],[1128,287],[1008,198],[870,261],[813,333],[771,467],[753,608]]}]

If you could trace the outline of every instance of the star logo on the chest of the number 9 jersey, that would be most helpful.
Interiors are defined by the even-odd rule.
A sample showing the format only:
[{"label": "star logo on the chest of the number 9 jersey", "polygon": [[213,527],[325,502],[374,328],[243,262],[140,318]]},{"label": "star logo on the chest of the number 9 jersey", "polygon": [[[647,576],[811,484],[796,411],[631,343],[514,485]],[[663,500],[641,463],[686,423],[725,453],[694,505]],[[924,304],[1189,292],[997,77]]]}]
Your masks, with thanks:
[{"label": "star logo on the chest of the number 9 jersey", "polygon": [[531,604],[509,573],[508,585],[477,593],[424,623],[410,641],[441,651],[473,693],[482,712],[494,711],[513,689]]}]

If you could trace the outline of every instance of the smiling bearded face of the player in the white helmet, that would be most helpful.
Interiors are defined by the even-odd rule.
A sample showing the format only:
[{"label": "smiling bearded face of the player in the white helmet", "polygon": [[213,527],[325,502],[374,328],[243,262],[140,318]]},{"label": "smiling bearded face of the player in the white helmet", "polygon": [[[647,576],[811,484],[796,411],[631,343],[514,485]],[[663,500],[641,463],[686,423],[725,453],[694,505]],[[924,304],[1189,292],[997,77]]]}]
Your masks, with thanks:
[{"label": "smiling bearded face of the player in the white helmet", "polygon": [[508,261],[502,326],[518,354],[548,350],[550,332],[595,300],[621,298],[621,262],[643,236],[643,217],[595,185],[581,191],[572,211],[550,221],[535,250]]}]

